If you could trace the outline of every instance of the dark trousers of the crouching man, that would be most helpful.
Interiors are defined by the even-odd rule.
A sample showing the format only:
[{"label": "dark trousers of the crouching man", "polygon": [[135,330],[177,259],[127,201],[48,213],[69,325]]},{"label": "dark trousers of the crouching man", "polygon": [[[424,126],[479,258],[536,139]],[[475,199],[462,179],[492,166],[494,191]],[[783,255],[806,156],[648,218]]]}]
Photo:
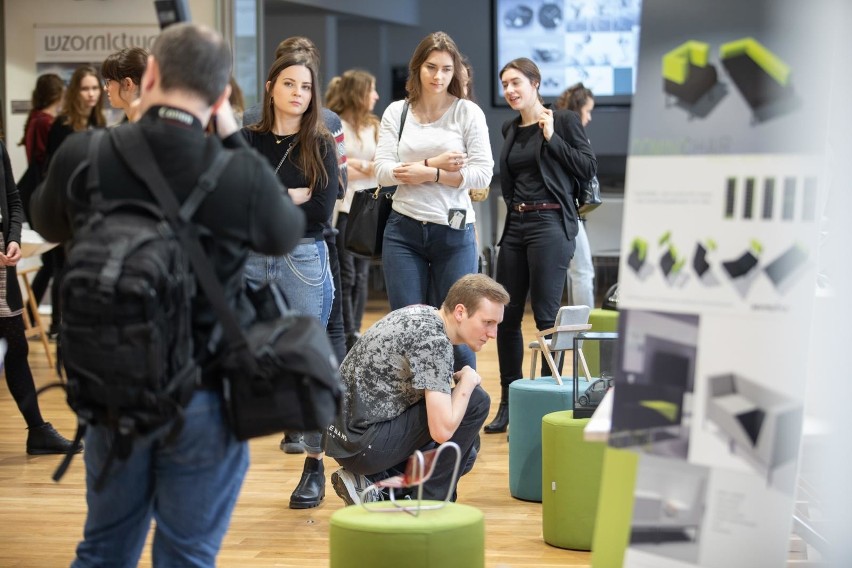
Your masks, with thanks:
[{"label": "dark trousers of the crouching man", "polygon": [[[473,447],[479,430],[488,417],[491,399],[482,387],[476,387],[470,395],[467,411],[450,441],[461,448],[459,476],[473,468],[476,449]],[[429,435],[429,420],[426,416],[426,400],[421,400],[393,420],[378,424],[376,437],[370,445],[348,458],[336,458],[337,462],[353,473],[366,475],[371,481],[386,479],[405,471],[405,465],[416,450],[426,451],[436,447]],[[455,500],[456,487],[452,483],[455,452],[445,450],[435,466],[432,478],[423,486],[424,499],[443,500],[452,489]]]}]

